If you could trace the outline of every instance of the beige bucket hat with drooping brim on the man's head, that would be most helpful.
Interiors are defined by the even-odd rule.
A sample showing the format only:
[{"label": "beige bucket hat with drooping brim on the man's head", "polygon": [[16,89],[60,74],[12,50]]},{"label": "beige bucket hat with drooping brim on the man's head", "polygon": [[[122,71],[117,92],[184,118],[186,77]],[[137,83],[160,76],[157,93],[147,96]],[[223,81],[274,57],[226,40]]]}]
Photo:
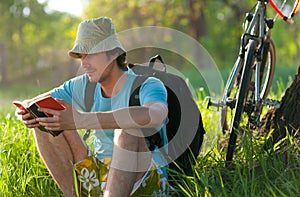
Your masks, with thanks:
[{"label": "beige bucket hat with drooping brim on the man's head", "polygon": [[69,55],[80,58],[80,54],[93,54],[124,47],[117,37],[112,20],[107,17],[83,21],[78,26],[75,45]]}]

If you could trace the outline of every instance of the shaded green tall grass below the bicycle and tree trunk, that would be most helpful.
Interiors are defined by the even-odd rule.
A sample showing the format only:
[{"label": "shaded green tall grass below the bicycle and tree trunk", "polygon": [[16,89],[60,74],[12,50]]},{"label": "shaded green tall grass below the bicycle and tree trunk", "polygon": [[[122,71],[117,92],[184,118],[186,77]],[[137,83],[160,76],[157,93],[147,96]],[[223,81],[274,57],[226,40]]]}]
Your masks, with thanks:
[{"label": "shaded green tall grass below the bicycle and tree trunk", "polygon": [[[277,151],[268,152],[262,150],[264,138],[244,133],[238,139],[235,162],[230,167],[225,167],[223,145],[216,144],[198,157],[194,176],[182,176],[178,188],[191,197],[299,196],[299,144],[288,136],[274,147]],[[285,150],[278,151],[279,147]]]}]

